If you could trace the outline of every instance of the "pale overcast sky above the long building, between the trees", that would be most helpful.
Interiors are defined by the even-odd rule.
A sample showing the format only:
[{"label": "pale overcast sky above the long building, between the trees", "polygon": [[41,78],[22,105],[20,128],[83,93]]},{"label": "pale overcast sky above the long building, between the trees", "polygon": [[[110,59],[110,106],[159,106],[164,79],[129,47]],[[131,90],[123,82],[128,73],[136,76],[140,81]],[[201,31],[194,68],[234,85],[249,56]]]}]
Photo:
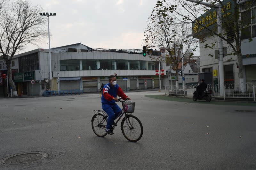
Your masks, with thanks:
[{"label": "pale overcast sky above the long building, between the trees", "polygon": [[[92,48],[142,49],[148,17],[157,0],[30,0],[50,17],[51,48],[81,42]],[[39,15],[39,14],[38,14]],[[46,25],[47,28],[47,25]],[[49,48],[48,38],[23,52]]]}]

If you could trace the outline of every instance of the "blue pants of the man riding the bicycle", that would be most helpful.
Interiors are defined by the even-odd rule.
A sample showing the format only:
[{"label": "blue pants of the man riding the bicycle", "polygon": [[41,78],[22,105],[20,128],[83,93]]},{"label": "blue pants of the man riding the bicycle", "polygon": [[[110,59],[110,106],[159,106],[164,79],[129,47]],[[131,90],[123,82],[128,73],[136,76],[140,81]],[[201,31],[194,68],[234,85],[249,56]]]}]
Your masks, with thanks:
[{"label": "blue pants of the man riding the bicycle", "polygon": [[110,129],[122,109],[116,103],[113,105],[102,104],[102,109],[108,114],[107,129]]}]

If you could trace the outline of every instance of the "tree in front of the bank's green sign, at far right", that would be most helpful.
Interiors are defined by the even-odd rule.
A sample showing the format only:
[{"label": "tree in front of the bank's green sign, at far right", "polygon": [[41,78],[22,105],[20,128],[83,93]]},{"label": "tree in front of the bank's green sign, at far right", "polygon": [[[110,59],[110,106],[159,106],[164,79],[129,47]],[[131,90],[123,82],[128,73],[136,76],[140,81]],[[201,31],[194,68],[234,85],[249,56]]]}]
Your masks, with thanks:
[{"label": "tree in front of the bank's green sign, at far right", "polygon": [[[219,16],[225,33],[217,33],[217,8],[208,8],[199,2],[206,2],[212,5],[219,5],[221,7],[221,16]],[[198,3],[188,2],[187,0],[172,0],[172,1],[158,1],[161,6],[163,4],[168,6],[168,11],[174,16],[174,20],[179,23],[192,23],[194,35],[200,35],[204,32],[204,36],[200,36],[200,41],[204,43],[205,48],[215,48],[217,42],[211,44],[206,43],[205,35],[208,37],[220,37],[227,42],[227,45],[232,49],[228,55],[227,61],[232,60],[232,56],[237,56],[238,61],[238,77],[241,91],[244,90],[244,73],[243,73],[243,57],[241,44],[243,41],[252,41],[251,35],[251,7],[255,5],[255,0],[244,2],[242,0],[200,0]],[[240,8],[243,10],[241,11]],[[249,33],[249,35],[246,35]],[[243,37],[244,36],[244,37]],[[247,36],[246,40],[245,37]],[[207,37],[207,36],[206,36]],[[209,54],[212,56],[211,54]]]}]

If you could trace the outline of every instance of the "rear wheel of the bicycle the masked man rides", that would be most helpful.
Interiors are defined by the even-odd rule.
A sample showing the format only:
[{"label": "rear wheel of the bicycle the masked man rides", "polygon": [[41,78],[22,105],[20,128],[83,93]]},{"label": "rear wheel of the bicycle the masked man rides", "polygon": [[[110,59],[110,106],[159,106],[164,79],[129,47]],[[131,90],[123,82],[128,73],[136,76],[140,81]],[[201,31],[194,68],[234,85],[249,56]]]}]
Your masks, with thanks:
[{"label": "rear wheel of the bicycle the masked man rides", "polygon": [[107,125],[107,118],[102,114],[95,114],[92,117],[92,130],[98,137],[104,137],[107,135],[106,128],[104,125]]}]

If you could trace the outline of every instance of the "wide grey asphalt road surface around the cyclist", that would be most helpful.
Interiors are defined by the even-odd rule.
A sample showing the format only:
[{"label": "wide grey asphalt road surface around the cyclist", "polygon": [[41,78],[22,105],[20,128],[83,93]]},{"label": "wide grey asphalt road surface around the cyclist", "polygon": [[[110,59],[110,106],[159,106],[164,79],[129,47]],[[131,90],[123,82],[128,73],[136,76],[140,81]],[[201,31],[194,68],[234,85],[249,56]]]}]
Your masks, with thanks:
[{"label": "wide grey asphalt road surface around the cyclist", "polygon": [[114,135],[93,133],[97,94],[0,99],[0,160],[49,154],[0,169],[256,169],[256,107],[145,97],[160,93],[127,93],[143,124],[137,143],[124,138],[120,123]]}]

